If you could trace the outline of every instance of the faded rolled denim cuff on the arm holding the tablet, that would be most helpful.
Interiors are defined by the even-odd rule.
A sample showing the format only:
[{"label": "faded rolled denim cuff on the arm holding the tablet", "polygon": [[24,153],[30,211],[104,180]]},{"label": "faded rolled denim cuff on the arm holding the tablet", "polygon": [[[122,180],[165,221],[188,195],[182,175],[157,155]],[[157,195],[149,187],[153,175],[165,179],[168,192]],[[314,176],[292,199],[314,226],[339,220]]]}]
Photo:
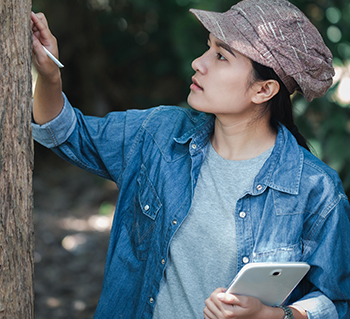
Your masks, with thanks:
[{"label": "faded rolled denim cuff on the arm holding the tablet", "polygon": [[334,303],[322,293],[315,291],[298,300],[291,306],[306,310],[308,319],[338,319],[338,312]]}]

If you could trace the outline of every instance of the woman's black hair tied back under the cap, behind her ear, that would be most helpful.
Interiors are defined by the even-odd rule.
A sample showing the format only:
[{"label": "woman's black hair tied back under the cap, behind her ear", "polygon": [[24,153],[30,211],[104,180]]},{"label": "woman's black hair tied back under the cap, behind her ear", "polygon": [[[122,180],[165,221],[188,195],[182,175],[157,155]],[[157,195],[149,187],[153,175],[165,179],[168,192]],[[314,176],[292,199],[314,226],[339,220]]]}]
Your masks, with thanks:
[{"label": "woman's black hair tied back under the cap, behind her ear", "polygon": [[283,124],[294,135],[298,144],[310,151],[305,137],[300,134],[297,126],[294,123],[293,105],[290,98],[290,93],[284,83],[272,68],[255,61],[252,61],[252,65],[253,78],[255,81],[266,81],[272,79],[276,80],[280,85],[279,92],[271,100],[269,100],[266,105],[265,112],[269,111],[271,114],[270,125],[274,129],[277,129],[278,123]]}]

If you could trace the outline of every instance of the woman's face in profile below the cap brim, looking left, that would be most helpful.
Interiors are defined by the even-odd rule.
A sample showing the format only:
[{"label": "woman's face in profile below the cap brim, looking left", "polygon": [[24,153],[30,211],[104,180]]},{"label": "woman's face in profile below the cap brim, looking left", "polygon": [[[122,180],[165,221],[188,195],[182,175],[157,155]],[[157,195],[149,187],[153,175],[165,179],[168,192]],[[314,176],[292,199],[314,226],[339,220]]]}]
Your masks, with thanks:
[{"label": "woman's face in profile below the cap brim, looking left", "polygon": [[236,119],[250,119],[256,105],[251,60],[210,34],[209,49],[192,62],[196,71],[192,77],[188,103],[194,109],[229,115]]}]

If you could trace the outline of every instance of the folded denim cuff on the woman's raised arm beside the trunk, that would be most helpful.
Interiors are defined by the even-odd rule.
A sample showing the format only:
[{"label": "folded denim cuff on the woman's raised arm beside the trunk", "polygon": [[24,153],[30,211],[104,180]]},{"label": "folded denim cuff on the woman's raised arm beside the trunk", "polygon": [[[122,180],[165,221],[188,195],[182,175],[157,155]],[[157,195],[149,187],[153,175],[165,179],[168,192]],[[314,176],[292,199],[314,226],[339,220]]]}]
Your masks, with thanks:
[{"label": "folded denim cuff on the woman's raised arm beside the trunk", "polygon": [[76,125],[76,115],[64,93],[64,105],[61,113],[50,122],[43,125],[32,120],[33,138],[38,143],[48,147],[56,147],[64,143],[72,134]]}]

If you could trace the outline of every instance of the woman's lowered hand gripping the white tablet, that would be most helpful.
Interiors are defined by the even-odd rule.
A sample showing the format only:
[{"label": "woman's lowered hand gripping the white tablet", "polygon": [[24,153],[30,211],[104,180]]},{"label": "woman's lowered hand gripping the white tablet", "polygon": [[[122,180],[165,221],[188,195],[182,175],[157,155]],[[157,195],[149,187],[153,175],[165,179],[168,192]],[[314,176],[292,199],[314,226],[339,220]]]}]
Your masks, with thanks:
[{"label": "woman's lowered hand gripping the white tablet", "polygon": [[225,290],[216,289],[205,301],[205,319],[283,318],[281,309],[265,306],[254,297],[226,294]]}]

